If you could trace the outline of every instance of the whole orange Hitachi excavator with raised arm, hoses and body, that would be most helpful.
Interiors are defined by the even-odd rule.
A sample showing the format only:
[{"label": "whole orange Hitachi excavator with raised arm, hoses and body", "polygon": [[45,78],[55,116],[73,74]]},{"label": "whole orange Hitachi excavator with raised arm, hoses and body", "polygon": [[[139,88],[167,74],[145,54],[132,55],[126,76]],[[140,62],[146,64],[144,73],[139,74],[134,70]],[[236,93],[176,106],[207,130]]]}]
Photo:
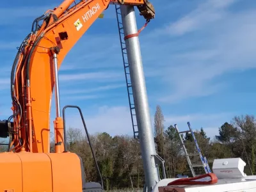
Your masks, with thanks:
[{"label": "whole orange Hitachi excavator with raised arm, hoses and body", "polygon": [[[154,7],[147,0],[81,0],[79,3],[65,0],[34,20],[31,33],[20,45],[12,66],[10,88],[13,115],[8,120],[0,121],[0,138],[10,139],[8,152],[0,154],[0,191],[103,190],[89,137],[100,182],[85,182],[81,158],[67,151],[65,118],[60,113],[58,70],[68,51],[109,4],[137,6],[147,22],[155,17]],[[54,152],[50,152],[49,120],[54,86],[55,147]],[[63,109],[63,116],[64,113]],[[85,124],[84,128],[88,136]]]}]

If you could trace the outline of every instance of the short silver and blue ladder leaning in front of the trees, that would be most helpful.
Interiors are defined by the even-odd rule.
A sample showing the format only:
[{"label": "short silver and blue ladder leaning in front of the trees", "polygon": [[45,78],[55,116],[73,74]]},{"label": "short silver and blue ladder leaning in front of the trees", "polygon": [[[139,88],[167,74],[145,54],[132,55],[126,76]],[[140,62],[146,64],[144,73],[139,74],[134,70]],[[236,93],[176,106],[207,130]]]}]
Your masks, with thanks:
[{"label": "short silver and blue ladder leaning in front of the trees", "polygon": [[[204,170],[205,170],[205,173],[211,173],[211,169],[209,167],[207,159],[206,159],[206,157],[202,156],[201,150],[200,150],[199,145],[198,145],[198,143],[196,141],[195,134],[194,134],[193,130],[191,129],[190,123],[188,122],[188,127],[189,127],[188,131],[180,131],[179,132],[177,124],[175,124],[174,126],[175,126],[176,131],[179,134],[180,142],[182,144],[182,147],[183,147],[183,150],[184,150],[185,156],[187,158],[187,161],[188,161],[188,164],[189,164],[189,168],[191,170],[191,173],[192,173],[193,177],[196,177],[195,170],[194,170],[195,167],[203,167]],[[188,133],[190,132],[191,135],[193,136],[193,140],[195,142],[195,146],[196,146],[196,150],[197,150],[198,154],[188,154],[186,146],[185,146],[185,143],[184,143],[183,138],[181,136],[181,134],[187,133],[187,132]],[[202,164],[192,164],[191,160],[189,158],[190,156],[200,156],[200,160],[201,160]]]}]

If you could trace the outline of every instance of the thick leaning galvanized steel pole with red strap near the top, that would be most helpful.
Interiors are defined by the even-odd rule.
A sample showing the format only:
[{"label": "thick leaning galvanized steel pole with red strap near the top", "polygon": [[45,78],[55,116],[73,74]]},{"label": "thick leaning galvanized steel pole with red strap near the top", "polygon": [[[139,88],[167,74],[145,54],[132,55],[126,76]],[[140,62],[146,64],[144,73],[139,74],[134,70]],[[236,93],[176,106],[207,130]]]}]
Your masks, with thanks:
[{"label": "thick leaning galvanized steel pole with red strap near the top", "polygon": [[[138,33],[136,16],[133,6],[120,6],[122,13],[122,22],[124,26],[124,35]],[[136,110],[136,119],[140,138],[141,155],[143,158],[143,169],[145,173],[145,182],[147,191],[159,181],[154,154],[156,148],[150,120],[148,107],[147,89],[141,59],[140,42],[138,36],[125,40],[127,48],[127,58],[130,68],[132,92],[134,95],[134,106]]]}]

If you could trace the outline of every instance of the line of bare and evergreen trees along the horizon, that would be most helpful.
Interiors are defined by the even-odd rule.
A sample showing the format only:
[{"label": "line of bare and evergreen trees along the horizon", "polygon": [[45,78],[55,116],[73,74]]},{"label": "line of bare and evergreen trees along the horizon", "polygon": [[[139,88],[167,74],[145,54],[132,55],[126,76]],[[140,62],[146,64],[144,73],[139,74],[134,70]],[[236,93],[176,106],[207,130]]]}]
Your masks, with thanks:
[{"label": "line of bare and evergreen trees along the horizon", "polygon": [[[175,124],[175,122],[173,122]],[[234,116],[230,122],[216,127],[219,134],[209,138],[203,127],[193,130],[203,156],[207,157],[210,167],[214,159],[240,157],[246,162],[245,172],[255,173],[256,121],[253,115]],[[193,137],[188,132],[182,135],[189,154],[196,154]],[[127,135],[110,136],[107,132],[90,135],[99,170],[103,177],[104,189],[143,188],[144,173],[138,139]],[[156,107],[154,115],[154,141],[156,151],[165,161],[166,177],[184,174],[191,177],[179,134],[173,125],[164,127],[161,107]],[[54,150],[54,143],[51,144]],[[84,163],[87,181],[99,181],[97,168],[83,129],[67,129],[67,148],[76,152]],[[3,151],[3,147],[0,148]],[[191,156],[193,164],[201,164],[199,156]],[[160,175],[163,172],[159,166]],[[196,168],[196,174],[203,174],[203,168]]]}]

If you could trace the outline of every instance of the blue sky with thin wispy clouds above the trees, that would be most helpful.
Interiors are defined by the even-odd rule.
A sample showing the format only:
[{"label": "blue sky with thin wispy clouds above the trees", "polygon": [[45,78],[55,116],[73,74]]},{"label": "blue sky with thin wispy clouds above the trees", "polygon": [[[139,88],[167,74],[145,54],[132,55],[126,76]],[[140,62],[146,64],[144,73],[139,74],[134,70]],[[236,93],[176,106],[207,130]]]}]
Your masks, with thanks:
[{"label": "blue sky with thin wispy clouds above the trees", "polygon": [[[234,115],[255,115],[256,1],[151,2],[156,19],[141,32],[140,43],[152,122],[159,104],[166,127],[178,124],[185,130],[190,121],[193,129],[204,127],[214,136]],[[35,17],[60,3],[1,4],[0,119],[12,112],[9,84],[16,47]],[[138,15],[138,28],[144,22]],[[115,6],[68,53],[61,65],[60,93],[62,107],[81,106],[89,132],[132,134]],[[54,109],[53,100],[52,120]],[[75,110],[67,115],[68,126],[81,127]]]}]

